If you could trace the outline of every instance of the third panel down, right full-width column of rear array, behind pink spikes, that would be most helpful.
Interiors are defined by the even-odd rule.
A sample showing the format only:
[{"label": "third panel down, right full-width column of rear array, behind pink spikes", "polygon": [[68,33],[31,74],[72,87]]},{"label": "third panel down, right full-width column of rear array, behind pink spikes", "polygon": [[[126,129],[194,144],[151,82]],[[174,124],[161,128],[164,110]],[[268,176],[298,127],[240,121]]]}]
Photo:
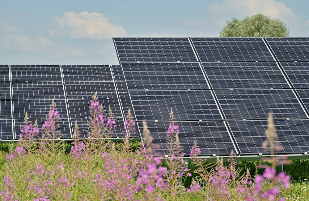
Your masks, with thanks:
[{"label": "third panel down, right full-width column of rear array, behind pink spikes", "polygon": [[[90,99],[68,99],[69,113],[71,118],[89,117]],[[119,99],[99,99],[103,109],[108,115],[108,107],[111,107],[114,117],[123,117],[120,109]]]}]

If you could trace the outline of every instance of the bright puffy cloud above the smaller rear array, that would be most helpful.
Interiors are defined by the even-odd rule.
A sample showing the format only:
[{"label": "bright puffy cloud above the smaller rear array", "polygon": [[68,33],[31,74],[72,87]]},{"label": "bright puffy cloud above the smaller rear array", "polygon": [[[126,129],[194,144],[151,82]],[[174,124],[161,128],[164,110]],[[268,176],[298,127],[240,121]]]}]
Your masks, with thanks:
[{"label": "bright puffy cloud above the smaller rear array", "polygon": [[117,36],[126,36],[121,25],[108,22],[100,13],[66,12],[61,18],[56,18],[59,29],[49,30],[49,34],[68,33],[70,38],[103,39]]}]

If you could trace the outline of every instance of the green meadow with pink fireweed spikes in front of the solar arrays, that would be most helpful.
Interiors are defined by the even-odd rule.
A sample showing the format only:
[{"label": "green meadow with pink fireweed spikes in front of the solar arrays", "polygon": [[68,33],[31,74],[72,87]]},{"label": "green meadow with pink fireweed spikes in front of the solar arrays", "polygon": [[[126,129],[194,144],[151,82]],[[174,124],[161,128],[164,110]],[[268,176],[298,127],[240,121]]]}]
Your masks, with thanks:
[{"label": "green meadow with pink fireweed spikes in front of the solar arrays", "polygon": [[[78,138],[76,124],[71,144],[53,140],[61,135],[54,103],[43,128],[26,114],[19,143],[1,145],[0,200],[309,200],[308,160],[237,162],[232,152],[227,162],[218,158],[210,163],[198,158],[195,143],[193,162],[185,163],[171,111],[165,147],[169,158],[162,163],[153,155],[151,140],[146,140],[151,139],[146,123],[142,149],[127,137],[136,130],[130,112],[121,143],[109,140],[116,122],[111,111],[104,115],[96,94],[90,113],[89,139]],[[42,139],[36,140],[39,134]],[[266,137],[265,147],[282,149],[271,115]],[[281,163],[287,174],[279,172]]]}]

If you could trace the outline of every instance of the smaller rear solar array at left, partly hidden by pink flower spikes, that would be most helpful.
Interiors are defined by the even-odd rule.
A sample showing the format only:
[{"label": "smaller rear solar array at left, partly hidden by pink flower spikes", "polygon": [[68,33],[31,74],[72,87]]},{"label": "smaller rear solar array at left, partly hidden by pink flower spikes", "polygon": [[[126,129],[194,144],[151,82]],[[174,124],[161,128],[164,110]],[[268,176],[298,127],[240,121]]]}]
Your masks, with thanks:
[{"label": "smaller rear solar array at left, partly hidden by pink flower spikes", "polygon": [[[113,66],[120,69],[120,66]],[[120,69],[121,70],[121,69]],[[91,131],[87,124],[92,95],[97,91],[106,115],[111,107],[117,127],[112,137],[122,137],[126,113],[121,100],[128,100],[122,72],[110,65],[2,65],[0,66],[0,139],[18,139],[25,113],[42,128],[52,99],[60,114],[60,139],[72,139],[75,121],[80,137]],[[122,99],[121,99],[122,98]],[[129,103],[127,108],[131,107]],[[38,138],[42,137],[42,133]]]}]

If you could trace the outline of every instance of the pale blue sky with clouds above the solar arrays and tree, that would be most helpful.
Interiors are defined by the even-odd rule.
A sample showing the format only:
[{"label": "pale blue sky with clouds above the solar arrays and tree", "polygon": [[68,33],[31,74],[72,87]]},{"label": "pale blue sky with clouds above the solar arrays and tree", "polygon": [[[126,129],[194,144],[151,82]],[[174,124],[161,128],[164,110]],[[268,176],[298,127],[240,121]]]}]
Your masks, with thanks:
[{"label": "pale blue sky with clouds above the solar arrays and tree", "polygon": [[112,37],[218,37],[232,18],[281,19],[309,37],[309,0],[11,0],[0,6],[0,64],[119,64]]}]

